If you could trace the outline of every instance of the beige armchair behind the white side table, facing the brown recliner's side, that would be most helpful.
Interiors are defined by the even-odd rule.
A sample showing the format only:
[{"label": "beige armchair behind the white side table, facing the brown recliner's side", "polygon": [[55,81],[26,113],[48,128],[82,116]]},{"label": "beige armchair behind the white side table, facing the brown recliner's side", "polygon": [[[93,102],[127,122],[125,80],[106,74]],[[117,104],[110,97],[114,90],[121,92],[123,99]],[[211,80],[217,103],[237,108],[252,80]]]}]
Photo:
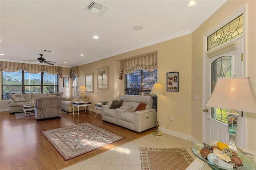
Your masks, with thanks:
[{"label": "beige armchair behind the white side table, facing the brown recliner's side", "polygon": [[[76,94],[74,96],[74,98],[65,98],[64,100],[62,100],[61,102],[61,109],[65,110],[66,112],[73,112],[73,108],[72,108],[72,102],[79,102],[81,100],[79,94]],[[85,96],[85,98],[83,98],[83,101],[89,101],[88,96]],[[79,107],[79,111],[81,110],[86,110],[86,108],[84,107]],[[77,112],[77,107],[74,107],[74,112]]]}]

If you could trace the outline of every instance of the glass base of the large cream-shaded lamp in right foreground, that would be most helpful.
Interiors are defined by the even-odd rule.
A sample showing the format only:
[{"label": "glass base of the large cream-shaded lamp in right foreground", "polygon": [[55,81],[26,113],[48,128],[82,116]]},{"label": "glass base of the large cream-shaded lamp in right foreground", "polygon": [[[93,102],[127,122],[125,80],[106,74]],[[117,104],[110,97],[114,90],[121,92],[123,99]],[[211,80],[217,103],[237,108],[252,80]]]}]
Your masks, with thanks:
[{"label": "glass base of the large cream-shaded lamp in right foreground", "polygon": [[230,110],[229,112],[227,112],[229,134],[228,147],[232,150],[242,153],[242,149],[236,146],[236,126],[238,121],[238,114],[239,113],[234,110]]}]

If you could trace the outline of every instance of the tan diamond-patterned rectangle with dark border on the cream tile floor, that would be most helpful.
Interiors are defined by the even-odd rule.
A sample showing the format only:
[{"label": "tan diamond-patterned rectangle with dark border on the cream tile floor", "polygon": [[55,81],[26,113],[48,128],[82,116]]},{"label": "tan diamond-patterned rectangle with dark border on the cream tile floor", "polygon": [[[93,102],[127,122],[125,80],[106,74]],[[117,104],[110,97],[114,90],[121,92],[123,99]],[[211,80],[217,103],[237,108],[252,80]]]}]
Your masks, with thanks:
[{"label": "tan diamond-patterned rectangle with dark border on the cream tile floor", "polygon": [[193,158],[183,148],[140,148],[142,170],[186,170]]}]

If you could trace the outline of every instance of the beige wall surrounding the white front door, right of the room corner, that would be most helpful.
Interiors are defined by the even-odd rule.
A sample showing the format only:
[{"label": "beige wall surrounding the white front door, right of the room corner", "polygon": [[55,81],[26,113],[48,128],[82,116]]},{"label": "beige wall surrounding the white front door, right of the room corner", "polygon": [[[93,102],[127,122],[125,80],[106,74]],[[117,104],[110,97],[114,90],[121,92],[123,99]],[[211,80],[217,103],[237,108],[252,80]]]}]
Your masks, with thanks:
[{"label": "beige wall surrounding the white front door, right of the room corner", "polygon": [[[192,136],[202,141],[202,61],[203,61],[203,35],[210,31],[214,26],[225,20],[233,12],[247,4],[246,20],[246,76],[249,76],[253,88],[256,90],[256,1],[255,0],[229,0],[219,10],[217,10],[210,18],[208,18],[198,29],[192,33],[192,94],[198,94],[199,100],[192,100]],[[245,114],[247,119],[246,132],[248,149],[256,151],[256,114]],[[253,130],[252,130],[253,129]]]}]

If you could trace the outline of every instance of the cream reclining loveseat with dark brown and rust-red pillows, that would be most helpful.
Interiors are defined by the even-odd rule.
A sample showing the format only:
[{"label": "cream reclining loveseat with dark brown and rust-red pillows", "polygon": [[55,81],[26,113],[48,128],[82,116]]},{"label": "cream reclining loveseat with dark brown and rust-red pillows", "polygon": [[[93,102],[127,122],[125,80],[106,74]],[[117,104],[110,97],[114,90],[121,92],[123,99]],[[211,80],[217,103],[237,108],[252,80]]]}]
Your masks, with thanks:
[{"label": "cream reclining loveseat with dark brown and rust-red pillows", "polygon": [[[116,103],[114,100],[113,102]],[[111,105],[102,107],[102,120],[136,132],[156,126],[156,109],[152,108],[151,96],[121,95],[117,102],[120,103],[120,107],[113,102]]]}]

